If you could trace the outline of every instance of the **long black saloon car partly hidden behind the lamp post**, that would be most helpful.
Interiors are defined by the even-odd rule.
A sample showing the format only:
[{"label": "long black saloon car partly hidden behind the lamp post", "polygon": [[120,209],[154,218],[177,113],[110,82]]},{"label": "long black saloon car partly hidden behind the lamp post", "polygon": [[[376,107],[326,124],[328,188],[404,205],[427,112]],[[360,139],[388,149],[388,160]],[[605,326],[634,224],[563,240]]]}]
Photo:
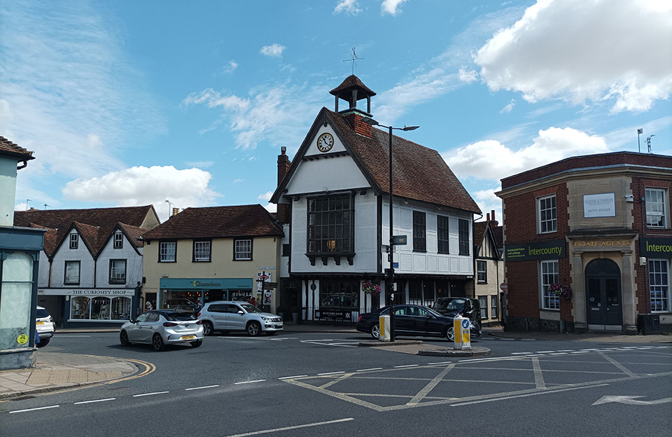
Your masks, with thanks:
[{"label": "long black saloon car partly hidden behind the lamp post", "polygon": [[[378,340],[380,335],[379,317],[390,314],[390,307],[360,314],[357,331],[370,333]],[[455,340],[453,317],[447,317],[422,305],[394,305],[395,335],[423,335],[444,337]]]}]

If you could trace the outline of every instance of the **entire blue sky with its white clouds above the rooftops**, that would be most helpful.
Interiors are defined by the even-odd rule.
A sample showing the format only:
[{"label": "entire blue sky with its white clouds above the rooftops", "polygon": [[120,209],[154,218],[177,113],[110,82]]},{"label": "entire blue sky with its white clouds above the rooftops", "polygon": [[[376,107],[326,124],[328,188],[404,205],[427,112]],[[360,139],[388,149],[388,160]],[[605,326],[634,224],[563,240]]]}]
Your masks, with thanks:
[{"label": "entire blue sky with its white clouds above the rooftops", "polygon": [[272,209],[355,48],[374,118],[420,125],[501,219],[505,176],[638,151],[638,128],[672,154],[669,41],[659,0],[5,1],[0,135],[36,158],[16,209]]}]

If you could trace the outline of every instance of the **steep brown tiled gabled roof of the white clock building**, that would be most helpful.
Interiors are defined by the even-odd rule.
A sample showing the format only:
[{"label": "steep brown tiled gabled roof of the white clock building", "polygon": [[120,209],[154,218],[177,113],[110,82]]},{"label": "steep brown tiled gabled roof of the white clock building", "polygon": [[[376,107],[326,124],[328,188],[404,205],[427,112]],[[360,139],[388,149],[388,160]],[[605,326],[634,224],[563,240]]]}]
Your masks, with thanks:
[{"label": "steep brown tiled gabled roof of the white clock building", "polygon": [[[377,193],[389,192],[389,133],[377,128],[372,136],[355,132],[346,116],[322,108],[292,165],[271,201],[277,203],[321,123],[330,123],[348,153]],[[392,136],[393,190],[395,196],[480,214],[476,202],[448,167],[441,155],[407,139]]]}]

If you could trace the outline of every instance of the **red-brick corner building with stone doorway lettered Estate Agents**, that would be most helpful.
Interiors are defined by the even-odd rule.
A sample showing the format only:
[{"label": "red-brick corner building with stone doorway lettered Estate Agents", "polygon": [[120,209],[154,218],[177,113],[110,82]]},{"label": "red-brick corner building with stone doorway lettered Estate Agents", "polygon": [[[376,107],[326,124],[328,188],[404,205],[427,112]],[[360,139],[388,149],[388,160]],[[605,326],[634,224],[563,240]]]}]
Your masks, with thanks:
[{"label": "red-brick corner building with stone doorway lettered Estate Agents", "polygon": [[[506,328],[672,325],[672,157],[567,158],[502,179]],[[569,292],[568,292],[569,290]]]}]

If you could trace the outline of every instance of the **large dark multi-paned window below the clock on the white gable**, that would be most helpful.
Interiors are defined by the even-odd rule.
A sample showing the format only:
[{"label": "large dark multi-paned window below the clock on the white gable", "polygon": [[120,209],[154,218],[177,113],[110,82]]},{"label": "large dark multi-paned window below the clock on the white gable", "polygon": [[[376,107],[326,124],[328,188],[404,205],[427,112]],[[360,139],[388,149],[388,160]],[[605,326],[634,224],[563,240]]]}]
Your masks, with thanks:
[{"label": "large dark multi-paned window below the clock on the white gable", "polygon": [[308,199],[308,254],[353,254],[354,199],[352,195]]}]

